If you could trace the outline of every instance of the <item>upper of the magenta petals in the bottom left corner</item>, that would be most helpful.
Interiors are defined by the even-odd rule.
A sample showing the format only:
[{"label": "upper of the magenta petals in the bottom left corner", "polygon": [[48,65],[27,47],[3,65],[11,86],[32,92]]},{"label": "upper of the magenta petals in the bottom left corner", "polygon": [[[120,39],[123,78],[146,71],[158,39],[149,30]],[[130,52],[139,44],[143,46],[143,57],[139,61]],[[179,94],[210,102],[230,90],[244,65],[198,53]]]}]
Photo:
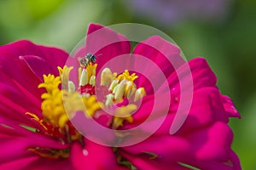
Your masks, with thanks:
[{"label": "upper of the magenta petals in the bottom left corner", "polygon": [[61,141],[46,136],[42,133],[33,133],[25,128],[15,129],[0,126],[1,141],[1,159],[0,162],[5,162],[19,158],[20,156],[32,153],[29,148],[41,147],[49,149],[67,149],[67,144],[61,144]]}]

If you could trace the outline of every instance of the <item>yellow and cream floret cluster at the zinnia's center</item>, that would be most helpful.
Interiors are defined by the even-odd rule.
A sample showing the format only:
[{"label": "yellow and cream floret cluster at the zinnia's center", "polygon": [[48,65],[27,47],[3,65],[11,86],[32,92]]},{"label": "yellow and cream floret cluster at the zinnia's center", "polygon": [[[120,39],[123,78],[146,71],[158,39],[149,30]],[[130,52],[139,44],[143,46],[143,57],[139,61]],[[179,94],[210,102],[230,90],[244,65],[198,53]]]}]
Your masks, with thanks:
[{"label": "yellow and cream floret cluster at the zinnia's center", "polygon": [[[74,141],[83,143],[82,135],[73,127],[70,119],[75,116],[76,111],[84,112],[88,118],[95,116],[96,111],[104,107],[111,107],[120,104],[124,99],[137,101],[146,95],[144,88],[137,88],[134,80],[137,79],[135,73],[131,74],[125,70],[119,76],[112,73],[108,68],[103,69],[101,75],[101,87],[108,88],[108,94],[104,99],[104,104],[96,99],[96,66],[93,61],[80,61],[79,67],[79,87],[69,79],[69,73],[73,67],[58,67],[60,76],[55,77],[49,74],[44,75],[44,82],[38,88],[44,88],[45,93],[41,95],[43,118],[27,112],[32,120],[38,122],[42,127],[36,133],[44,133],[60,140],[62,144],[72,144]],[[112,117],[111,128],[117,129],[123,126],[124,122],[133,122],[131,112],[137,109],[137,105],[129,104],[117,107]],[[68,114],[67,114],[68,113]],[[66,158],[69,156],[69,147],[63,150],[49,148],[32,147],[29,148],[34,153],[49,158]]]}]

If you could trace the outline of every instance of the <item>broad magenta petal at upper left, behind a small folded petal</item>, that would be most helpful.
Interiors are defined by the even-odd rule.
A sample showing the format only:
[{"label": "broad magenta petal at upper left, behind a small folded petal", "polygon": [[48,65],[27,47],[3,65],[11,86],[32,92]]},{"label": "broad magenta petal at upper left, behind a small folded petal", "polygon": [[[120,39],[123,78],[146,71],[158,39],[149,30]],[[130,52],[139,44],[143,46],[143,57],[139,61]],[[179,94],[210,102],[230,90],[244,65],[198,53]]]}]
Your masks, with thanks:
[{"label": "broad magenta petal at upper left, behind a small folded petal", "polygon": [[[49,63],[51,69],[57,73],[57,66],[63,66],[68,54],[57,48],[47,48],[38,46],[32,42],[23,40],[10,43],[0,48],[0,71],[3,71],[20,87],[30,89],[32,94],[38,94],[38,84],[40,81],[26,62],[20,60],[20,56],[35,55]],[[43,75],[42,75],[43,77]]]}]

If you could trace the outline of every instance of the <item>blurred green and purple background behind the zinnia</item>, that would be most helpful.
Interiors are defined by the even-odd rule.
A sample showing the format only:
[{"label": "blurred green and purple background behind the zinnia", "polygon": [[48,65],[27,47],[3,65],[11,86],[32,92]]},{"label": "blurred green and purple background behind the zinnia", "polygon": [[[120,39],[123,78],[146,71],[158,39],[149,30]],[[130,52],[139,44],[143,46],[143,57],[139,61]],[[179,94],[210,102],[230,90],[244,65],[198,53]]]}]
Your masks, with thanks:
[{"label": "blurred green and purple background behind the zinnia", "polygon": [[70,52],[89,23],[135,22],[166,32],[187,59],[207,58],[241,113],[230,120],[243,169],[256,161],[255,0],[0,0],[0,44],[29,39]]}]

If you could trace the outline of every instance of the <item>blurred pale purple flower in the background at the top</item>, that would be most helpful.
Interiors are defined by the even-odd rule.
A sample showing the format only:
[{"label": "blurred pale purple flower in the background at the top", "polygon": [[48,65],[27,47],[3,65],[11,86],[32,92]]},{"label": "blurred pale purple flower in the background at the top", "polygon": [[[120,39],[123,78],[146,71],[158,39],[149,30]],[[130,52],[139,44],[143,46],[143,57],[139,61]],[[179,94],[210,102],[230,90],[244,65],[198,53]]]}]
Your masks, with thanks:
[{"label": "blurred pale purple flower in the background at the top", "polygon": [[132,13],[170,26],[182,20],[223,20],[230,0],[130,0],[125,1]]}]

